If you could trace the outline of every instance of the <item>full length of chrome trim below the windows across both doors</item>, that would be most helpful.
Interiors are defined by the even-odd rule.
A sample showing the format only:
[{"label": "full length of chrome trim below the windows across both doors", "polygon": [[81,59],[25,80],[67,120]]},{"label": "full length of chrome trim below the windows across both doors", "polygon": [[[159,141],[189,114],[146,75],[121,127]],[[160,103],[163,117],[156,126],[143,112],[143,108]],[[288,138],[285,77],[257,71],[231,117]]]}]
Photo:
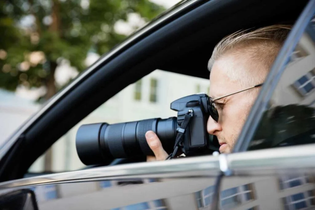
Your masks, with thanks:
[{"label": "full length of chrome trim below the windows across both doors", "polygon": [[123,178],[266,175],[289,170],[315,171],[315,144],[272,148],[219,156],[179,158],[55,173],[0,183],[0,190],[28,185],[71,183]]}]

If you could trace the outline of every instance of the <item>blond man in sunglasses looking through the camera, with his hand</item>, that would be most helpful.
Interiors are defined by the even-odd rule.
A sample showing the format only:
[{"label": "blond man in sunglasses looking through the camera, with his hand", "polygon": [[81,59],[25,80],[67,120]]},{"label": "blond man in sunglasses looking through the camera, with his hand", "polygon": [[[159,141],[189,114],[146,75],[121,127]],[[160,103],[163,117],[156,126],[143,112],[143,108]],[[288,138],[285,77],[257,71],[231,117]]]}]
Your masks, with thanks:
[{"label": "blond man in sunglasses looking through the camera, with his hand", "polygon": [[[264,82],[290,29],[289,25],[273,25],[223,38],[208,63],[209,96],[215,99]],[[207,131],[218,138],[221,153],[232,152],[259,90],[255,87],[214,102],[219,120],[215,122],[210,116]],[[168,154],[157,135],[148,131],[146,140],[155,155],[148,156],[147,161],[165,160]]]}]

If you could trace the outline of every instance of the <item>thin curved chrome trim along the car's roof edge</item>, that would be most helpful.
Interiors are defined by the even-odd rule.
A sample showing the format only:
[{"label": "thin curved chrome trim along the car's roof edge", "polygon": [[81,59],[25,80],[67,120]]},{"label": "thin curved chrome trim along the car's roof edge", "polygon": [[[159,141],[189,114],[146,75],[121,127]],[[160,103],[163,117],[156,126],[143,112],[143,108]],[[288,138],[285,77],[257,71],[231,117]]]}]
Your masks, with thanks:
[{"label": "thin curved chrome trim along the car's roof edge", "polygon": [[49,109],[54,103],[56,103],[63,95],[65,95],[69,90],[71,90],[78,82],[83,80],[83,78],[87,77],[90,72],[96,69],[99,65],[101,65],[104,61],[112,57],[114,54],[119,52],[121,49],[126,47],[131,42],[135,41],[138,37],[145,34],[147,31],[151,30],[152,28],[156,27],[157,25],[161,24],[163,21],[166,21],[171,16],[179,13],[180,11],[186,9],[187,7],[191,6],[195,2],[202,1],[202,0],[191,0],[182,5],[179,5],[177,8],[170,8],[169,13],[166,12],[160,19],[153,20],[152,23],[147,24],[141,30],[132,34],[129,38],[123,41],[120,45],[116,48],[112,49],[109,53],[103,55],[99,60],[97,60],[94,64],[89,66],[85,71],[83,71],[76,79],[73,80],[69,85],[67,85],[64,89],[62,89],[59,93],[57,93],[53,98],[51,98],[35,115],[33,115],[22,127],[18,128],[16,133],[14,133],[5,143],[1,146],[0,149],[0,160],[3,156],[8,152],[14,142],[20,137],[20,135],[30,127],[36,120],[39,118],[45,111]]}]

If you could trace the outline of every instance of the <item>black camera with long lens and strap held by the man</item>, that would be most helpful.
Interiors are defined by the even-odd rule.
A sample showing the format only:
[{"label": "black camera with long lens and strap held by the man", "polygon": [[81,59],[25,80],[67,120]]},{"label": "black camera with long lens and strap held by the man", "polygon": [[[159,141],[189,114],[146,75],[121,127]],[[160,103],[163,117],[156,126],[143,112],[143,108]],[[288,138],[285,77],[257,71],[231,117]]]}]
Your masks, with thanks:
[{"label": "black camera with long lens and strap held by the man", "polygon": [[145,137],[149,130],[157,134],[168,154],[171,154],[176,146],[178,152],[186,156],[218,151],[217,139],[207,133],[207,121],[211,111],[207,94],[194,94],[177,99],[171,103],[170,108],[177,111],[177,117],[80,126],[76,135],[80,160],[85,165],[92,165],[114,158],[153,156]]}]

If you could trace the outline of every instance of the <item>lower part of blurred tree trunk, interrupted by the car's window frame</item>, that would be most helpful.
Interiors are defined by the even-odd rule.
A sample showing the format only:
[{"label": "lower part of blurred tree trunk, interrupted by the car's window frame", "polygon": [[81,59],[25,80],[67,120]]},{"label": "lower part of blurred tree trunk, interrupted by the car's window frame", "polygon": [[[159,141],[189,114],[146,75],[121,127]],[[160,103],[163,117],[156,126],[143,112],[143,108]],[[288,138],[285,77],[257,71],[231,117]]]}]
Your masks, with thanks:
[{"label": "lower part of blurred tree trunk, interrupted by the car's window frame", "polygon": [[[57,68],[57,63],[51,61],[50,62],[50,74],[46,79],[46,100],[49,100],[54,94],[56,94],[56,85],[55,85],[55,71]],[[44,158],[44,169],[46,172],[52,171],[52,160],[53,160],[53,152],[52,152],[52,147],[50,147],[45,154]]]}]

